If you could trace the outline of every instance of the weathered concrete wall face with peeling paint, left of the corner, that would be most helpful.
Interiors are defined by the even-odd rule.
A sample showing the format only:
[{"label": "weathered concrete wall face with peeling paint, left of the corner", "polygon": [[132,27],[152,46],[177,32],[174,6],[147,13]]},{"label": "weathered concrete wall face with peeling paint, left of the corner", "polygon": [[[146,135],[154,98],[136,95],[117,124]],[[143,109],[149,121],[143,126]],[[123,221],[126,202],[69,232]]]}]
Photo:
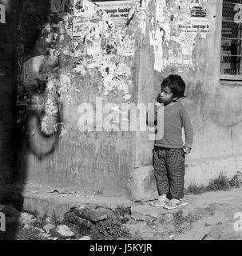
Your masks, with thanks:
[{"label": "weathered concrete wall face with peeling paint, left of the corner", "polygon": [[[97,97],[103,108],[107,102],[137,102],[137,26],[113,25],[91,2],[85,2],[88,10],[81,14],[75,14],[72,1],[23,2],[18,24],[18,172],[53,188],[125,194],[135,134],[96,131],[98,122],[88,132],[81,130],[81,103],[92,104],[96,118]],[[26,31],[35,42],[29,42]],[[120,130],[117,111],[109,108],[101,122],[107,123],[110,113],[111,126]]]}]

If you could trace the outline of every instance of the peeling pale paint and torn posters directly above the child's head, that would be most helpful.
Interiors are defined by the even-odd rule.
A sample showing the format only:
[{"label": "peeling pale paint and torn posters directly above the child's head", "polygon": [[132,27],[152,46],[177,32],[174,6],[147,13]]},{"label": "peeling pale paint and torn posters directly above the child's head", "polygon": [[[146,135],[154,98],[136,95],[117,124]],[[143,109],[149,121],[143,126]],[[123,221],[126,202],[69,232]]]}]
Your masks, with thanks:
[{"label": "peeling pale paint and torn posters directly above the child's head", "polygon": [[154,69],[169,66],[194,69],[192,57],[196,37],[205,39],[209,22],[204,10],[207,1],[157,0],[153,28],[149,30],[150,45],[154,47]]}]

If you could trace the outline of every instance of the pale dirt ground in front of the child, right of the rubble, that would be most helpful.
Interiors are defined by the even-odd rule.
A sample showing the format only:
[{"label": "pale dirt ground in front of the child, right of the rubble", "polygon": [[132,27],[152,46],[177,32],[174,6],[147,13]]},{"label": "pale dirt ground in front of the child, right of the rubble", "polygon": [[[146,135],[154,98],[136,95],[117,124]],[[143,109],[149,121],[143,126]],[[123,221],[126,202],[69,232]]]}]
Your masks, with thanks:
[{"label": "pale dirt ground in front of the child, right of the rubble", "polygon": [[152,207],[148,202],[134,206],[133,218],[138,222],[127,226],[143,239],[242,239],[242,188],[187,195],[184,199],[188,206],[176,210]]}]

